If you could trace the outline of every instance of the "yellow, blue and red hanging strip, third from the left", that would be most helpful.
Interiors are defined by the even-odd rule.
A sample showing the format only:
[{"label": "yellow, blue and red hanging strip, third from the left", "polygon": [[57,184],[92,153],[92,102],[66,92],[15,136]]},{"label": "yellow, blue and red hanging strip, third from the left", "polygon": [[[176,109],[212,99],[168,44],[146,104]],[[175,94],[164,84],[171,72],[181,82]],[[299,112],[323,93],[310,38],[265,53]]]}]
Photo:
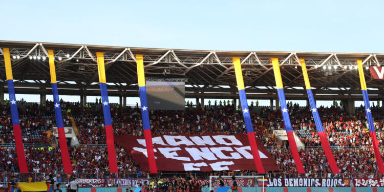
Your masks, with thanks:
[{"label": "yellow, blue and red hanging strip, third from the left", "polygon": [[97,68],[99,72],[99,82],[100,82],[100,92],[101,92],[101,101],[103,106],[104,113],[104,124],[105,124],[105,136],[106,136],[106,146],[108,149],[108,160],[110,164],[110,173],[118,173],[117,170],[117,161],[116,161],[116,151],[115,151],[115,141],[113,139],[113,127],[111,119],[111,109],[110,103],[108,100],[108,92],[106,90],[106,79],[105,79],[105,69],[104,69],[104,53],[97,52]]}]

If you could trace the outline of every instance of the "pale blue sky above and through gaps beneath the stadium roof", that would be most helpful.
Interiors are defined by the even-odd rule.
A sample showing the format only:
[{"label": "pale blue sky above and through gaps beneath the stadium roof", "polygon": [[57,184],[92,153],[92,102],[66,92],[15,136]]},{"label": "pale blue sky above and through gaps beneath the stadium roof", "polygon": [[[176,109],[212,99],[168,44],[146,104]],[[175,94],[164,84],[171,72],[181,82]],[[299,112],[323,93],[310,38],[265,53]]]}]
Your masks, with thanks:
[{"label": "pale blue sky above and through gaps beneath the stadium roof", "polygon": [[169,49],[383,53],[383,7],[384,1],[0,0],[0,39]]}]

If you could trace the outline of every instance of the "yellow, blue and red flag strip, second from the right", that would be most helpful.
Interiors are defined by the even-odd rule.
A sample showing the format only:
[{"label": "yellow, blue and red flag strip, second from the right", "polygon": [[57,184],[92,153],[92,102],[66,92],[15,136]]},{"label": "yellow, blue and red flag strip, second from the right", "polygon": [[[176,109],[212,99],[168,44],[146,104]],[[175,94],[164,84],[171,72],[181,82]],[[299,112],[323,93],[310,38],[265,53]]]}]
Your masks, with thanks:
[{"label": "yellow, blue and red flag strip, second from the right", "polygon": [[300,63],[302,65],[305,88],[307,90],[309,104],[311,105],[311,111],[312,111],[313,119],[315,120],[316,129],[318,132],[318,136],[320,137],[325,156],[327,157],[327,160],[328,160],[329,166],[331,167],[332,173],[339,174],[340,170],[337,167],[335,158],[333,157],[333,154],[331,151],[331,147],[329,146],[328,137],[324,132],[322,120],[320,119],[320,116],[318,115],[318,111],[316,108],[316,102],[315,102],[315,99],[313,98],[313,94],[312,94],[311,84],[309,83],[307,67],[305,66],[305,60],[304,59],[299,59],[299,60],[300,60]]}]

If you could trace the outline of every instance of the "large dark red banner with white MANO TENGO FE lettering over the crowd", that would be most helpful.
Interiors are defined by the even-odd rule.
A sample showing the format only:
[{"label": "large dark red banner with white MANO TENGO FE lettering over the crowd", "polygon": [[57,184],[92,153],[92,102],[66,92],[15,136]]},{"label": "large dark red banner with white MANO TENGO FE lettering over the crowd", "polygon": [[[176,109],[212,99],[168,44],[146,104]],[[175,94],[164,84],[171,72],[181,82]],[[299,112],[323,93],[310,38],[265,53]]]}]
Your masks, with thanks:
[{"label": "large dark red banner with white MANO TENGO FE lettering over the crowd", "polygon": [[[124,147],[143,171],[148,171],[144,137],[117,135],[115,142]],[[163,171],[210,172],[212,170],[256,170],[247,135],[161,135],[152,138],[156,164]],[[256,139],[264,169],[279,170],[271,154]]]}]

